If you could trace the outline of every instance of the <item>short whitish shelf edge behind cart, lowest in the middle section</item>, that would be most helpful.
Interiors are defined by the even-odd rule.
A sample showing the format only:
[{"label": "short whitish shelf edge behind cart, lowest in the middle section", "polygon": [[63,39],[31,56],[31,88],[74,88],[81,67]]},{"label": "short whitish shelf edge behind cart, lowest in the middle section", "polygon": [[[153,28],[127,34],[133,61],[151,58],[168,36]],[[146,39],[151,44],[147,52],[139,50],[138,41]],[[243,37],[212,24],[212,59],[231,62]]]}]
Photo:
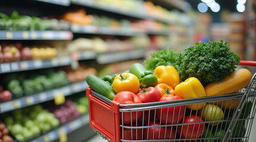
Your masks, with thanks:
[{"label": "short whitish shelf edge behind cart, lowest in the middle section", "polygon": [[99,64],[120,62],[124,60],[139,59],[145,56],[146,49],[120,51],[114,53],[98,54],[96,61]]}]

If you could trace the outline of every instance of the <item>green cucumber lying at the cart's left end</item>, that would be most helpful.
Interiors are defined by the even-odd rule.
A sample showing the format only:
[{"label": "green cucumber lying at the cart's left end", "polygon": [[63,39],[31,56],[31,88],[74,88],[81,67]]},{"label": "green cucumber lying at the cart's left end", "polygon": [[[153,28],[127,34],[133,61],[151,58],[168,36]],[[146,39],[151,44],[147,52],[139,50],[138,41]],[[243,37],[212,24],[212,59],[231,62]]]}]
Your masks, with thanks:
[{"label": "green cucumber lying at the cart's left end", "polygon": [[115,92],[110,84],[95,75],[88,75],[85,80],[94,91],[110,100],[113,100]]}]

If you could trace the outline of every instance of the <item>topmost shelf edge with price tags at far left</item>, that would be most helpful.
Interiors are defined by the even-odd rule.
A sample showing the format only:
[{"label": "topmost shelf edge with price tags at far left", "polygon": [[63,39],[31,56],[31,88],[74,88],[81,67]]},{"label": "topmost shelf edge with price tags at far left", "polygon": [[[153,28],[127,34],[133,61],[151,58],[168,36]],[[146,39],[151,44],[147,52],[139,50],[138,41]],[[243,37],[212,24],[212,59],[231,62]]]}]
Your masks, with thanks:
[{"label": "topmost shelf edge with price tags at far left", "polygon": [[71,40],[71,31],[0,31],[0,40]]}]

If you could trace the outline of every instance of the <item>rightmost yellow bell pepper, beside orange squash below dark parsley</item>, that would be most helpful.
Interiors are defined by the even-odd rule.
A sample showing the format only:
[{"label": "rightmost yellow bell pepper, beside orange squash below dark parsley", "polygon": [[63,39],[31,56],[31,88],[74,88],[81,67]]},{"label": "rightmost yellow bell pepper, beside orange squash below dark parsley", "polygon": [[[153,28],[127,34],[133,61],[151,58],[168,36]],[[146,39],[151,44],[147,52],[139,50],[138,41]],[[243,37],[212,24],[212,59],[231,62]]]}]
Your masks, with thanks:
[{"label": "rightmost yellow bell pepper, beside orange squash below dark parsley", "polygon": [[[184,82],[177,85],[174,89],[175,95],[180,96],[183,99],[199,98],[206,96],[204,86],[202,83],[194,77],[186,79]],[[196,109],[201,109],[204,103],[198,103],[193,105],[187,105],[187,108],[195,111]]]}]

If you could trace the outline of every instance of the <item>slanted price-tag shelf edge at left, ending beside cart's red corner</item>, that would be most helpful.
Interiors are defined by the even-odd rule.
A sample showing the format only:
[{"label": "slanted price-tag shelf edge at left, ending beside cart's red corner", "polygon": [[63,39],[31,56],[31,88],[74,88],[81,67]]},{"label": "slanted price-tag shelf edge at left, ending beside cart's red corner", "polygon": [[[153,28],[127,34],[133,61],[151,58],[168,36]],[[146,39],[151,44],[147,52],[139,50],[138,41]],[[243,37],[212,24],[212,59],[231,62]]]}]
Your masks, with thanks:
[{"label": "slanted price-tag shelf edge at left, ending beside cart's red corner", "polygon": [[70,85],[61,88],[52,89],[50,91],[36,93],[35,95],[23,96],[21,98],[13,99],[12,101],[2,102],[0,104],[0,114],[14,109],[24,108],[26,106],[40,104],[42,102],[50,101],[56,95],[72,95],[86,90],[88,84],[86,81],[71,83]]}]

